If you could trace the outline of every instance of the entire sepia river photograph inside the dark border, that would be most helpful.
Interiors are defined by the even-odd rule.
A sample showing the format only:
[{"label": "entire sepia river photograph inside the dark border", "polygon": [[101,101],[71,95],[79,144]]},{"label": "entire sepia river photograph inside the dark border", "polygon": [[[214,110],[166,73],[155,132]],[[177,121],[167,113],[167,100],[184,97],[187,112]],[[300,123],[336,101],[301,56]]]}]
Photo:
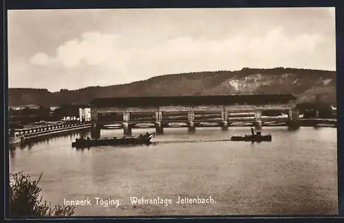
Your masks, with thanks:
[{"label": "entire sepia river photograph inside the dark border", "polygon": [[334,8],[8,10],[9,217],[337,215]]}]

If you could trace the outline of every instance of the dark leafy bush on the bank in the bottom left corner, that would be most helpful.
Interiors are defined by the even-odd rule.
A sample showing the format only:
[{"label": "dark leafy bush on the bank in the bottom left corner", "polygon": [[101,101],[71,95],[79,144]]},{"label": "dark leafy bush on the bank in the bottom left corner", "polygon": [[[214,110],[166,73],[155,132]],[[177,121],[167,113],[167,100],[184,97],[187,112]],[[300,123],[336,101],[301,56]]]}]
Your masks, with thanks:
[{"label": "dark leafy bush on the bank in the bottom left corner", "polygon": [[[42,176],[42,174],[41,174]],[[23,172],[10,173],[10,217],[48,217],[48,216],[71,216],[75,207],[61,207],[57,204],[51,207],[43,197],[40,196],[42,188],[38,186],[41,180],[32,180]]]}]

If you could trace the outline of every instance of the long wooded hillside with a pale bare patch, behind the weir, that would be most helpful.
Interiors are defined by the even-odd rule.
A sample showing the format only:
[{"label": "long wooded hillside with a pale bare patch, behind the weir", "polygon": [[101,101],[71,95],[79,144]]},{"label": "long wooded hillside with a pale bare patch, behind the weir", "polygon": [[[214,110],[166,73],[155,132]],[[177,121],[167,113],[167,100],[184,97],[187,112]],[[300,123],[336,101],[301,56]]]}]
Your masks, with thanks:
[{"label": "long wooded hillside with a pale bare patch, behind the weir", "polygon": [[244,95],[293,93],[299,103],[336,104],[336,72],[310,69],[248,69],[160,75],[148,80],[112,86],[89,86],[75,91],[9,89],[10,106],[63,103],[89,104],[94,97]]}]

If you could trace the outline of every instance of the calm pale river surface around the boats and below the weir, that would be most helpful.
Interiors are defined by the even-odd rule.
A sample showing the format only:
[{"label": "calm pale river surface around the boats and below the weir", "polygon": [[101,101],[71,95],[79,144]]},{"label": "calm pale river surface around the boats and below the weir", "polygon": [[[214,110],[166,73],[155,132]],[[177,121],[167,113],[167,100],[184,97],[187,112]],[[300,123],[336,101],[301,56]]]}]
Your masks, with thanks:
[{"label": "calm pale river surface around the boats and below the weir", "polygon": [[[133,134],[153,129],[133,129]],[[151,145],[72,148],[85,132],[54,137],[10,152],[10,171],[43,173],[52,204],[89,198],[74,215],[325,215],[336,214],[336,128],[264,127],[272,142],[227,141],[245,127],[165,128]],[[100,137],[122,136],[101,130]],[[180,198],[210,198],[182,204]],[[132,204],[131,198],[171,199]],[[95,198],[98,199],[98,204]],[[120,202],[105,205],[100,198]],[[85,203],[87,204],[87,203]],[[103,204],[103,205],[102,205]],[[118,204],[118,203],[117,203]]]}]

